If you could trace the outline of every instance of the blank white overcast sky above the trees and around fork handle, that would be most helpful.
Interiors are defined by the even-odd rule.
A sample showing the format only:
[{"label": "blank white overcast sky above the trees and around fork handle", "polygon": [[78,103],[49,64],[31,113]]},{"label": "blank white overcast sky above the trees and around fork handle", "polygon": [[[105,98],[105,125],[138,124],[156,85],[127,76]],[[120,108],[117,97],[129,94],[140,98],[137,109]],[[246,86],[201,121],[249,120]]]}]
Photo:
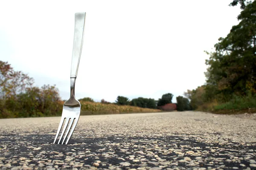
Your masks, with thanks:
[{"label": "blank white overcast sky above the trees and around fork handle", "polygon": [[86,12],[76,98],[158,99],[205,83],[219,37],[238,23],[231,0],[2,0],[0,60],[70,95],[74,14]]}]

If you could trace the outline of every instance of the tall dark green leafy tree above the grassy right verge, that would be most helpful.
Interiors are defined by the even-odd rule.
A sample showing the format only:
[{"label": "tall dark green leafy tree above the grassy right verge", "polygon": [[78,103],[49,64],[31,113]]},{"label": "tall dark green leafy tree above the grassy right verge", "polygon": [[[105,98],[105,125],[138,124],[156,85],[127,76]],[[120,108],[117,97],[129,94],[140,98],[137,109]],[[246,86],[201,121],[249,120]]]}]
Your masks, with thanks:
[{"label": "tall dark green leafy tree above the grassy right verge", "polygon": [[210,58],[206,60],[207,85],[215,86],[215,95],[223,102],[233,94],[256,93],[256,1],[244,6],[238,20],[227,37],[219,38],[215,52],[208,53]]}]

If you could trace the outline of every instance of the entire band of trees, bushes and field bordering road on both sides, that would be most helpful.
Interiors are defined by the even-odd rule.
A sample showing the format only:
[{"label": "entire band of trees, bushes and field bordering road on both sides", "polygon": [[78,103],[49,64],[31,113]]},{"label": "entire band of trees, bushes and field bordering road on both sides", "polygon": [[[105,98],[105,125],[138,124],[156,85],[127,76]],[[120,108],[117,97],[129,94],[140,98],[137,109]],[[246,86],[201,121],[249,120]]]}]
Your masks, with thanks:
[{"label": "entire band of trees, bushes and field bordering road on both sides", "polygon": [[[206,83],[187,89],[172,103],[172,93],[161,98],[117,96],[116,101],[79,99],[81,115],[198,110],[219,114],[256,112],[256,1],[233,0],[240,5],[239,24],[220,37],[209,59]],[[230,7],[232,8],[232,7]],[[61,115],[64,101],[55,85],[34,86],[33,78],[0,61],[0,118]],[[173,89],[175,90],[175,89]]]}]

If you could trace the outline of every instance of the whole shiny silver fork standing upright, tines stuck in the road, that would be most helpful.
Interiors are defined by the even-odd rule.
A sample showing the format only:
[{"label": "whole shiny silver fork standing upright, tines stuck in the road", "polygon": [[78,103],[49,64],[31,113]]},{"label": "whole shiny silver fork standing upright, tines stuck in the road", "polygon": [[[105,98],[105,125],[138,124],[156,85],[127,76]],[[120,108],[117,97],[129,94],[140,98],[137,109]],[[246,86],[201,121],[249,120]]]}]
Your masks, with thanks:
[{"label": "whole shiny silver fork standing upright, tines stuck in the road", "polygon": [[[76,76],[78,72],[78,66],[79,66],[79,61],[80,61],[81,51],[83,46],[85,14],[86,14],[85,12],[75,13],[75,33],[74,33],[73,53],[72,53],[72,62],[71,62],[71,73],[70,73],[70,98],[67,101],[65,101],[63,105],[61,121],[58,126],[58,130],[57,130],[53,144],[55,144],[55,141],[58,138],[58,135],[61,131],[61,127],[64,123],[64,120],[65,120],[65,124],[64,124],[64,128],[62,130],[61,136],[58,140],[58,144],[60,144],[66,129],[67,131],[64,135],[64,138],[62,139],[61,144],[64,144],[64,141],[68,136],[66,141],[66,144],[67,144],[76,128],[76,124],[80,117],[81,104],[75,98],[75,83],[76,83]],[[68,128],[67,128],[67,125],[68,125]]]}]

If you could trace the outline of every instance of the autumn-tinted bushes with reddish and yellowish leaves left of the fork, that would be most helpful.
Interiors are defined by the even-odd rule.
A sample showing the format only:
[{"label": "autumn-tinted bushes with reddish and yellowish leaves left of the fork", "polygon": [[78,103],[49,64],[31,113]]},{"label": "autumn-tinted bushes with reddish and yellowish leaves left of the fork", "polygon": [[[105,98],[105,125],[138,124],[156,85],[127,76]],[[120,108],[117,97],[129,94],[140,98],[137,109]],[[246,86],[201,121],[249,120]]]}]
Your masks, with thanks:
[{"label": "autumn-tinted bushes with reddish and yellowish leaves left of the fork", "polygon": [[55,86],[33,86],[34,80],[0,61],[0,118],[60,115],[63,104]]}]

